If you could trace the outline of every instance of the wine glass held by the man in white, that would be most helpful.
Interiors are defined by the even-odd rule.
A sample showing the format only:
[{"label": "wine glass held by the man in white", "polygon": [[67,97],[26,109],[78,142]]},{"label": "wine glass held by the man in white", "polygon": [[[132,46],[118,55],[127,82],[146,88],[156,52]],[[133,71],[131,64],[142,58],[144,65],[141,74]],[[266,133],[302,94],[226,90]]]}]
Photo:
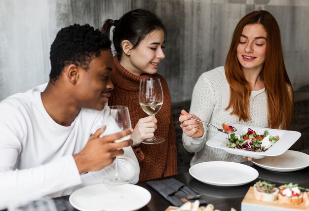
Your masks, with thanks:
[{"label": "wine glass held by the man in white", "polygon": [[[106,125],[106,131],[103,135],[117,133],[126,129],[131,128],[131,119],[129,109],[126,106],[109,106],[110,118],[103,122]],[[129,140],[131,135],[122,137],[121,139],[115,140],[114,142],[121,142]],[[129,183],[130,180],[126,177],[120,177],[118,174],[118,157],[115,159],[115,175],[108,176],[103,179],[106,184],[120,185]]]}]

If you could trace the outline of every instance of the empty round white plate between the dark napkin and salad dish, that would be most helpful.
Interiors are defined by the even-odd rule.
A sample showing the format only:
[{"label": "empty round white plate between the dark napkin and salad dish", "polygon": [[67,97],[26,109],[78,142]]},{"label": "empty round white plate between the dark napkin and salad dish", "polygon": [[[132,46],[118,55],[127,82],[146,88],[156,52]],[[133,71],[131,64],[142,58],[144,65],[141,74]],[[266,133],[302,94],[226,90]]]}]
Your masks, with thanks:
[{"label": "empty round white plate between the dark napkin and salad dish", "polygon": [[225,161],[198,163],[189,169],[198,181],[216,186],[237,186],[247,184],[259,176],[250,166]]}]

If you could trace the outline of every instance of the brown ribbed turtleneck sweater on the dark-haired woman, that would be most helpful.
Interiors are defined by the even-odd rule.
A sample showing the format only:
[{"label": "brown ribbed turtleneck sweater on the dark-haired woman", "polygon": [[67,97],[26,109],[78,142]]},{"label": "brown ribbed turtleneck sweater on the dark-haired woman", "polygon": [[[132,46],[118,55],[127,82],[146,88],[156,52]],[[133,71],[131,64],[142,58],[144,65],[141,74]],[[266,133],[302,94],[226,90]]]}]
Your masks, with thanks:
[{"label": "brown ribbed turtleneck sweater on the dark-haired woman", "polygon": [[150,76],[160,78],[163,89],[164,102],[155,115],[157,130],[154,135],[164,138],[165,141],[158,144],[141,143],[133,147],[140,164],[140,181],[177,174],[176,135],[171,114],[171,98],[167,82],[161,75],[157,73],[134,75],[120,65],[117,56],[114,57],[114,67],[110,75],[114,90],[112,90],[109,105],[128,106],[132,128],[140,118],[148,116],[139,105],[138,89],[140,79],[150,78]]}]

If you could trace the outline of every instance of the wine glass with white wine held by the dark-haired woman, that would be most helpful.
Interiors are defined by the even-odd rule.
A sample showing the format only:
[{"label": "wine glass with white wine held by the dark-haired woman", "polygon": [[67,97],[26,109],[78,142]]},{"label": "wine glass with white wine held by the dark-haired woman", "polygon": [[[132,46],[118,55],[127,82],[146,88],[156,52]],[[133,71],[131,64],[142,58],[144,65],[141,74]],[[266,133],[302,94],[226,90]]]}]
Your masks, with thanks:
[{"label": "wine glass with white wine held by the dark-haired woman", "polygon": [[[143,78],[140,81],[139,103],[150,116],[154,116],[163,104],[163,91],[159,78]],[[142,143],[153,144],[165,141],[162,137],[145,139]]]}]

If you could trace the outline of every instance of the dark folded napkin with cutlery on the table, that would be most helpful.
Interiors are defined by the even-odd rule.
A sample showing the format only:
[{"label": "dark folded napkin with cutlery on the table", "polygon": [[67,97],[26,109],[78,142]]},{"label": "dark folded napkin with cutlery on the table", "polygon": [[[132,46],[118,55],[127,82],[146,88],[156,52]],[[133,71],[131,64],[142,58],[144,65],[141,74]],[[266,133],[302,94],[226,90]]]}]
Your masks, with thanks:
[{"label": "dark folded napkin with cutlery on the table", "polygon": [[[183,188],[186,191],[188,191],[190,194],[192,194],[193,196],[196,196],[196,193],[193,190],[191,190],[189,187],[187,187],[184,183],[182,183],[182,182],[180,182],[180,181],[178,181],[174,178],[148,181],[147,184],[149,186],[151,186],[152,188],[154,188],[154,190],[156,190],[165,199],[167,199],[170,203],[172,203],[174,206],[177,206],[177,207],[182,206],[184,203],[180,199],[176,198],[174,196],[174,193],[177,192],[179,195],[181,195],[182,197],[187,199],[187,194],[184,193],[179,188]],[[200,202],[200,204],[206,203],[206,201],[204,199],[201,199],[201,198],[193,199],[193,200],[187,199],[187,200],[191,201],[191,202],[198,200]]]}]

